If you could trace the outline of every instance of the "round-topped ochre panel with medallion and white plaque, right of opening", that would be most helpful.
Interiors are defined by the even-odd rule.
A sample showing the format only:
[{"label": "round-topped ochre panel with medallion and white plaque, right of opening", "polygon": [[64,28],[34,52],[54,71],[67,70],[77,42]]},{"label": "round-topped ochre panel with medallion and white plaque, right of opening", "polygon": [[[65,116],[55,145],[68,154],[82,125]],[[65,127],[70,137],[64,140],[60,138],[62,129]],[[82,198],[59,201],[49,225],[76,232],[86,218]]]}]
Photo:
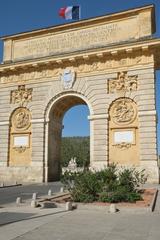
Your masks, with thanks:
[{"label": "round-topped ochre panel with medallion and white plaque, right of opening", "polygon": [[109,111],[109,162],[139,164],[137,105],[129,98],[119,98]]}]

